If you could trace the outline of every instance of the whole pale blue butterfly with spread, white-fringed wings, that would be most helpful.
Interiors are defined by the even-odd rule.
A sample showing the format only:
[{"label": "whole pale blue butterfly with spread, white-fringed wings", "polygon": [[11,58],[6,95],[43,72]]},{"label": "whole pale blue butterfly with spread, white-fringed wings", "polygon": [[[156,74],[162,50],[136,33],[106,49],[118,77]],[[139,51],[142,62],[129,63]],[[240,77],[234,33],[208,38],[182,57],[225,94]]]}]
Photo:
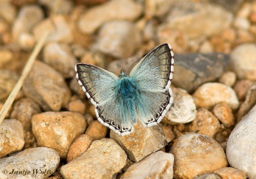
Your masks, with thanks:
[{"label": "whole pale blue butterfly with spread, white-fringed wings", "polygon": [[76,79],[95,106],[102,125],[119,135],[129,135],[137,120],[158,125],[172,104],[174,54],[161,44],[119,77],[94,65],[76,64]]}]

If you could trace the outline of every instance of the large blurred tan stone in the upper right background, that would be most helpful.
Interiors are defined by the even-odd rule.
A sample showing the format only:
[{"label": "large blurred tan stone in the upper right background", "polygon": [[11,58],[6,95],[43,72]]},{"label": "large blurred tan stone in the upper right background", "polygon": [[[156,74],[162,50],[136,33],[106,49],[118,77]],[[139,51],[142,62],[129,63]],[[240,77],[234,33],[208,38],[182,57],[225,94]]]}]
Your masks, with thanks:
[{"label": "large blurred tan stone in the upper right background", "polygon": [[188,39],[211,37],[228,28],[233,21],[232,13],[217,5],[176,2],[175,7],[161,26],[164,26],[163,29],[178,30]]}]

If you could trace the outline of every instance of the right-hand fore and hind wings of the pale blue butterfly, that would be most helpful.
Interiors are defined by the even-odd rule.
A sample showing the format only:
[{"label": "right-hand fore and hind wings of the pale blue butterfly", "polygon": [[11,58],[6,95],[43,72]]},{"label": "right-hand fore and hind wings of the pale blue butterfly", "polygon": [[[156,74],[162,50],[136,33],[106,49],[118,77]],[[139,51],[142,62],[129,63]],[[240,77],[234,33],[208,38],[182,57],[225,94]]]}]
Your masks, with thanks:
[{"label": "right-hand fore and hind wings of the pale blue butterfly", "polygon": [[157,125],[172,104],[174,54],[169,44],[149,52],[130,72],[137,85],[137,118],[148,127]]}]

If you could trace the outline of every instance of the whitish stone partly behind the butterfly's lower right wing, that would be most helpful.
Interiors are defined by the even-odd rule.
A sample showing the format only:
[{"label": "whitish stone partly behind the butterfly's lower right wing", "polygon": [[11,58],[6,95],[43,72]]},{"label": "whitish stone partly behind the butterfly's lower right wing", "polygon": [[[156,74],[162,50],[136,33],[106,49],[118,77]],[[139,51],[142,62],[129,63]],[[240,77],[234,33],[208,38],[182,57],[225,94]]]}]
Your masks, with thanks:
[{"label": "whitish stone partly behind the butterfly's lower right wing", "polygon": [[162,123],[188,123],[193,121],[197,115],[197,108],[193,97],[185,90],[172,88],[173,103],[172,107],[165,114]]}]

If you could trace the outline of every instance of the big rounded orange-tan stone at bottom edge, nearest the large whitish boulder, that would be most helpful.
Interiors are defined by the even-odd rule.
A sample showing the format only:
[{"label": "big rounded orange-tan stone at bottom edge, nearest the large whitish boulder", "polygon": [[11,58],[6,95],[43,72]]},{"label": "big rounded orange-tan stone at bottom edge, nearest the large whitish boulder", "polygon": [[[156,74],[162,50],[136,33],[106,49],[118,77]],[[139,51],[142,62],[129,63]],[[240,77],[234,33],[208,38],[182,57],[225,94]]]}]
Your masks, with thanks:
[{"label": "big rounded orange-tan stone at bottom edge, nearest the large whitish boulder", "polygon": [[206,135],[181,135],[172,145],[174,177],[194,178],[227,166],[224,150]]}]

